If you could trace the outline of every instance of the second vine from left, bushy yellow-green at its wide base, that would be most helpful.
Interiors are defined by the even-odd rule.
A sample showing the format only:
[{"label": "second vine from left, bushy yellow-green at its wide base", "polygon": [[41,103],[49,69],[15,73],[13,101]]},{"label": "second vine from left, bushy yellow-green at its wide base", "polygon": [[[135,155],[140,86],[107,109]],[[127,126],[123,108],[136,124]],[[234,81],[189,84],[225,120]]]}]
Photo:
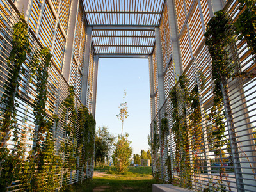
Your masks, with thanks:
[{"label": "second vine from left, bushy yellow-green at its wide base", "polygon": [[[29,163],[25,164],[32,176],[33,191],[53,191],[58,188],[61,172],[61,157],[55,154],[54,138],[51,136],[52,121],[47,120],[47,78],[51,67],[51,53],[47,47],[35,51],[31,61],[31,76],[36,76],[36,98],[34,100],[35,131],[33,134],[33,149],[29,156]],[[30,169],[29,169],[30,168]],[[29,174],[29,175],[30,175]],[[42,179],[44,178],[44,179]],[[28,181],[29,182],[29,181]],[[47,186],[47,187],[45,187]]]}]

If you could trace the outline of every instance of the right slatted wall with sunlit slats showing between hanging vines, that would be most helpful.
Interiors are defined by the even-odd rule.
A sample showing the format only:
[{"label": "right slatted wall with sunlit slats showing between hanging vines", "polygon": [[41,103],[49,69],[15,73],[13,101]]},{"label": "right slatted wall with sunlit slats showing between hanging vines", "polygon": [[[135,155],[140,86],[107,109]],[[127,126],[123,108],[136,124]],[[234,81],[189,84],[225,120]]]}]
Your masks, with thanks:
[{"label": "right slatted wall with sunlit slats showing between hanging vines", "polygon": [[[168,3],[172,1],[168,1]],[[151,138],[152,143],[158,143],[156,150],[152,151],[152,164],[154,176],[164,182],[172,182],[183,188],[193,191],[255,191],[256,190],[256,154],[255,154],[255,55],[251,54],[246,40],[238,40],[232,36],[232,43],[226,47],[230,53],[228,68],[232,68],[230,78],[223,85],[222,93],[224,102],[219,106],[221,120],[225,122],[225,131],[221,137],[220,154],[214,149],[218,142],[212,133],[216,132],[216,118],[211,116],[213,106],[213,87],[211,56],[205,45],[204,33],[207,22],[211,19],[211,1],[175,0],[177,36],[179,39],[180,58],[182,72],[188,77],[188,93],[195,86],[199,87],[200,122],[199,129],[193,131],[193,113],[191,104],[184,104],[182,91],[179,91],[177,109],[180,118],[179,134],[175,134],[173,126],[173,103],[169,92],[173,86],[180,88],[178,79],[175,79],[175,63],[172,54],[171,25],[168,24],[168,6],[165,3],[159,28],[161,31],[161,45],[163,54],[163,76],[165,102],[159,106],[157,92],[156,54],[153,52],[154,74],[154,100],[156,114],[152,114]],[[239,10],[238,1],[223,1],[223,11],[227,13],[230,22],[236,21],[243,10]],[[232,27],[226,34],[233,33]],[[249,74],[249,76],[237,77],[237,72]],[[205,86],[200,87],[202,81]],[[186,109],[184,111],[184,108]],[[161,135],[161,120],[167,113],[169,132]],[[182,132],[182,126],[186,126],[186,134]],[[176,137],[176,138],[175,138]],[[180,143],[177,144],[177,138]],[[215,152],[215,153],[214,153]],[[166,163],[167,162],[167,163]]]}]

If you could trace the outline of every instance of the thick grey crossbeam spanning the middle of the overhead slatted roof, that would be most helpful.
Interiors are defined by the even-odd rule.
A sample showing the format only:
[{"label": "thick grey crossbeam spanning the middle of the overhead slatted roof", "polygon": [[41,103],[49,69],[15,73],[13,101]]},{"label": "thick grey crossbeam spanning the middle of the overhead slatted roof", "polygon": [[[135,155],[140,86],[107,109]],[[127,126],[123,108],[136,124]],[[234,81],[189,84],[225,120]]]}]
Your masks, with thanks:
[{"label": "thick grey crossbeam spanning the middle of the overhead slatted roof", "polygon": [[154,31],[155,26],[130,26],[130,25],[96,25],[92,26],[93,31]]}]

